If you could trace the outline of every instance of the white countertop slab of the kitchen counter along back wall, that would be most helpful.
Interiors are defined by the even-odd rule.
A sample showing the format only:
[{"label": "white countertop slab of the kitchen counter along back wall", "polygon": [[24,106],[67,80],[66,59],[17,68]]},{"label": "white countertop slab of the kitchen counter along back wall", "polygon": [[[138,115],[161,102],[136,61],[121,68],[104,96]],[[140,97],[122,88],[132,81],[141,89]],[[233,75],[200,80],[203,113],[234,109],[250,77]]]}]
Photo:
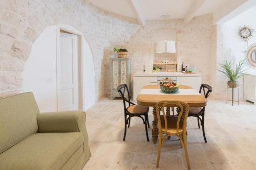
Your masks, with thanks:
[{"label": "white countertop slab of the kitchen counter along back wall", "polygon": [[142,72],[135,73],[134,77],[201,77],[201,73],[184,74],[182,72]]}]

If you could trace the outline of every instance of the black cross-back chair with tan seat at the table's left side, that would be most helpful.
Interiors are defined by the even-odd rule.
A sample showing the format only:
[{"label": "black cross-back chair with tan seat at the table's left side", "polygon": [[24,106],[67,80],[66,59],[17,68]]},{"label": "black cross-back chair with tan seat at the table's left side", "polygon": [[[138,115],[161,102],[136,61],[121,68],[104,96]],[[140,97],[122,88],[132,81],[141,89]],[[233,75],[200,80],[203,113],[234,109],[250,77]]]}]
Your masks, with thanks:
[{"label": "black cross-back chair with tan seat at the table's left side", "polygon": [[[126,136],[126,127],[128,125],[128,128],[130,127],[131,123],[131,117],[140,117],[143,120],[143,124],[145,125],[146,130],[146,139],[147,141],[150,141],[148,139],[147,134],[147,126],[150,128],[150,124],[148,123],[148,110],[149,107],[142,106],[142,105],[135,105],[130,100],[130,92],[126,84],[121,84],[117,87],[117,91],[120,94],[121,98],[123,99],[123,107],[124,107],[124,135],[123,140],[125,140]],[[126,92],[126,93],[125,93]],[[126,99],[126,96],[128,99]],[[126,103],[128,106],[126,107]],[[144,115],[145,119],[142,117]],[[128,118],[127,118],[128,116]]]}]

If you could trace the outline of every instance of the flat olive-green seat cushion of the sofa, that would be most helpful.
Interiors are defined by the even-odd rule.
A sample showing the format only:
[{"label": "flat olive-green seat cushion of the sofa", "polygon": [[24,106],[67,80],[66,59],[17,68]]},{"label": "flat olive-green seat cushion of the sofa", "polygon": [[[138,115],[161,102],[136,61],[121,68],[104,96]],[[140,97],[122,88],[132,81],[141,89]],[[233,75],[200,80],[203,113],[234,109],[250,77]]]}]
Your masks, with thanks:
[{"label": "flat olive-green seat cushion of the sofa", "polygon": [[83,145],[82,133],[36,133],[0,154],[0,169],[60,169]]}]

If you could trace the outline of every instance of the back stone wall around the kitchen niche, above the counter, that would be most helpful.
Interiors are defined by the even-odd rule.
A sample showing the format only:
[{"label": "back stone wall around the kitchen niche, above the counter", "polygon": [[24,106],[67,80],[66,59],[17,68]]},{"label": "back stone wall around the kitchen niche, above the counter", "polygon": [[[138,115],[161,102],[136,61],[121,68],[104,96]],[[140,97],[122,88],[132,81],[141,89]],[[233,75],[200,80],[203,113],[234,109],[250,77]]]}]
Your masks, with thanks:
[{"label": "back stone wall around the kitchen niche, above the counter", "polygon": [[[147,21],[131,37],[130,42],[123,44],[129,50],[127,57],[131,58],[132,75],[142,72],[143,64],[146,71],[153,69],[154,32],[158,29],[177,30],[178,70],[182,62],[193,65],[197,71],[202,72],[203,83],[215,83],[216,26],[212,25],[211,14],[194,17],[188,25],[184,25],[181,19]],[[109,72],[105,76],[108,80]],[[109,88],[109,83],[106,84]]]}]

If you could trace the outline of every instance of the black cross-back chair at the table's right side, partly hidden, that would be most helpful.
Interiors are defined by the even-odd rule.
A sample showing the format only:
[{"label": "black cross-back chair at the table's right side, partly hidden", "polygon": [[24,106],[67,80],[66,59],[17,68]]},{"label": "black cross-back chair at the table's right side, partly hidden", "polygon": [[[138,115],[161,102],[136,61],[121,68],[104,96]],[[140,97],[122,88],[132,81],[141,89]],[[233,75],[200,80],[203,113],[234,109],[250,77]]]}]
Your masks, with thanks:
[{"label": "black cross-back chair at the table's right side, partly hidden", "polygon": [[[201,84],[199,93],[203,92],[204,97],[206,99],[210,95],[211,91],[212,91],[212,87],[210,85],[208,85],[208,84]],[[198,128],[200,129],[200,123],[201,123],[202,130],[203,130],[204,141],[205,141],[205,143],[207,143],[207,140],[206,140],[206,137],[205,137],[205,132],[204,132],[204,112],[205,112],[205,107],[203,107],[203,108],[190,107],[189,108],[188,117],[197,117]]]}]

